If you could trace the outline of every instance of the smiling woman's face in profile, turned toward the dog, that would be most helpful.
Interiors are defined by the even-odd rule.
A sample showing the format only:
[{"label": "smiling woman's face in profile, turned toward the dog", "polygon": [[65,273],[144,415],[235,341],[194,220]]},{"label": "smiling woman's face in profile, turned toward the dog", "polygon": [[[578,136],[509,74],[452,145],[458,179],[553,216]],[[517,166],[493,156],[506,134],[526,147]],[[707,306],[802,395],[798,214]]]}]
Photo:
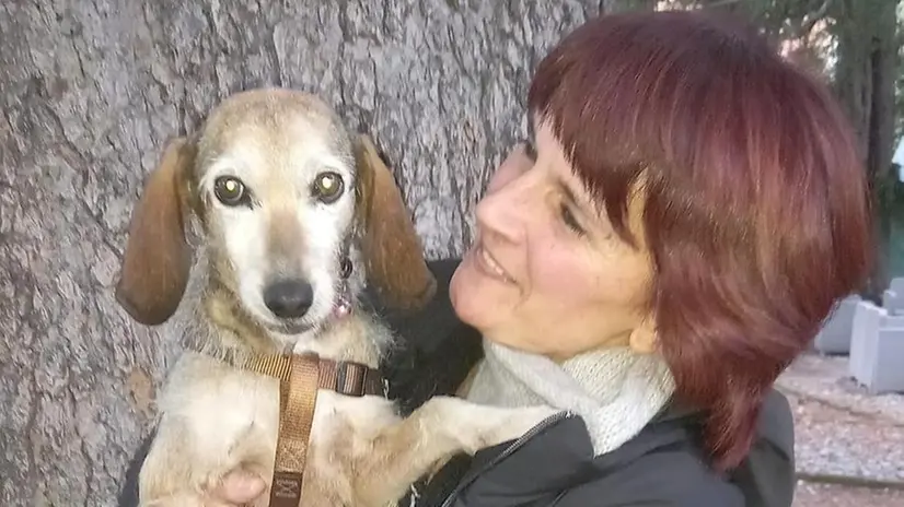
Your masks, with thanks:
[{"label": "smiling woman's face in profile, turned toward the dog", "polygon": [[653,346],[651,263],[633,199],[624,243],[545,125],[477,204],[477,237],[452,278],[459,317],[494,342],[564,361],[604,346]]}]

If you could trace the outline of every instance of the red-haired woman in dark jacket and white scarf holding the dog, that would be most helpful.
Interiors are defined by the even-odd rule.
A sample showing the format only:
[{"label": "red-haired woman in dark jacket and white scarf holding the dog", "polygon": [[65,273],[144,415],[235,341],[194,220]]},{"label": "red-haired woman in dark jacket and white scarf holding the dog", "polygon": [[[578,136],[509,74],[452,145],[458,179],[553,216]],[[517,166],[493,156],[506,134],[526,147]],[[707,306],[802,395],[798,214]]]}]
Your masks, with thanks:
[{"label": "red-haired woman in dark jacket and white scarf holding the dog", "polygon": [[[752,32],[633,13],[568,35],[529,109],[534,140],[497,172],[451,278],[485,354],[460,392],[580,417],[450,463],[418,505],[789,506],[791,415],[772,385],[871,254],[827,91]],[[234,475],[215,493],[260,487]]]}]

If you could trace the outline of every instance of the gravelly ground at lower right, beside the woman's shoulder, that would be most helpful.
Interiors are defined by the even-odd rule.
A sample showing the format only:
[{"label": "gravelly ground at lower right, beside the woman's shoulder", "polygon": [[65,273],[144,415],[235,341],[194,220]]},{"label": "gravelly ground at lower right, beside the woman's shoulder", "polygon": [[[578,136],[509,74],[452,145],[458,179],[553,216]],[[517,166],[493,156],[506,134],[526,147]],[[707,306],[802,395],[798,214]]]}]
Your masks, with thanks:
[{"label": "gravelly ground at lower right, beside the woman's shoulder", "polygon": [[796,420],[795,507],[904,506],[904,396],[870,396],[847,357],[807,354],[778,380]]}]

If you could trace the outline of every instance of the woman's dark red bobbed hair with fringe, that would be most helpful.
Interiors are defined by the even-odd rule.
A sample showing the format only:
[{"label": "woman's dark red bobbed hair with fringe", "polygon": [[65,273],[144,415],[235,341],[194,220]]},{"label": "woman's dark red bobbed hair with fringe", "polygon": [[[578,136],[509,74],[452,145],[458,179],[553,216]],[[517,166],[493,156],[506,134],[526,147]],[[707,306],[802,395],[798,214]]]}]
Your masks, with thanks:
[{"label": "woman's dark red bobbed hair with fringe", "polygon": [[828,91],[744,25],[699,11],[589,21],[529,95],[619,236],[642,189],[650,308],[716,468],[872,258],[866,172]]}]

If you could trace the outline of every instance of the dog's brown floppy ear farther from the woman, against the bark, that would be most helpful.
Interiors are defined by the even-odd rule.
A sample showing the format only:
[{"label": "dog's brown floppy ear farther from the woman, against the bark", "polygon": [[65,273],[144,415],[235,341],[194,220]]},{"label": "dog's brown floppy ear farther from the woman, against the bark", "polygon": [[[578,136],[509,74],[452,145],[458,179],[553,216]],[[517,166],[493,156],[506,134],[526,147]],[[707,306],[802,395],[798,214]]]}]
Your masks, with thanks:
[{"label": "dog's brown floppy ear farther from the woman, against the bark", "polygon": [[116,300],[138,322],[158,326],[176,311],[192,268],[185,236],[195,145],[171,141],[135,207]]}]

